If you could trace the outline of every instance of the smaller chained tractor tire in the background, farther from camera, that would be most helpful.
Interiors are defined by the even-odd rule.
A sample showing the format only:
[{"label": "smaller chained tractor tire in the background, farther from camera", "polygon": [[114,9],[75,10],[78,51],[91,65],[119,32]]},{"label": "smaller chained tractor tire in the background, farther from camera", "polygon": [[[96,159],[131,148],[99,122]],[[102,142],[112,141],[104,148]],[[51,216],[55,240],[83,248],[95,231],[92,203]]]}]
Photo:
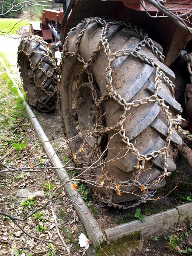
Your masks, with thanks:
[{"label": "smaller chained tractor tire in the background, farther from camera", "polygon": [[28,35],[18,47],[18,66],[29,104],[49,112],[57,102],[57,70],[52,52],[43,38]]}]

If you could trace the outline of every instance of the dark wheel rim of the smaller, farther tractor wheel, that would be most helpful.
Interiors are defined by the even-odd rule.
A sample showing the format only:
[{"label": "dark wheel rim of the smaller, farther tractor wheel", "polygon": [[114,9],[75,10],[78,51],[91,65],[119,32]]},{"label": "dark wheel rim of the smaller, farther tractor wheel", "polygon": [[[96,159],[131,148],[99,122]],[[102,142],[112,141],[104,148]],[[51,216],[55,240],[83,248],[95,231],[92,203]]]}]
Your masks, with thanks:
[{"label": "dark wheel rim of the smaller, farther tractor wheel", "polygon": [[27,96],[32,104],[36,103],[37,97],[37,87],[35,86],[35,81],[33,77],[33,72],[30,66],[30,61],[27,55],[23,55],[21,61],[21,72],[23,73],[25,90],[27,91]]}]

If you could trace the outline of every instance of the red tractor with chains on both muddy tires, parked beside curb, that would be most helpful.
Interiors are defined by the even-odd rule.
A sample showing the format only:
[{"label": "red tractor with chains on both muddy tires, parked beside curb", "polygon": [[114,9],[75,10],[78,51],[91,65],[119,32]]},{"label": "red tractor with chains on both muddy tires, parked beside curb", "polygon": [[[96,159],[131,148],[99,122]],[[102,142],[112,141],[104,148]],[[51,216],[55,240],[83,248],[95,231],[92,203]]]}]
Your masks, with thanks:
[{"label": "red tractor with chains on both muddy tires, parked beside curb", "polygon": [[93,194],[134,207],[176,169],[178,127],[192,132],[192,33],[177,19],[191,2],[166,1],[174,18],[158,1],[56,2],[63,8],[44,9],[40,29],[18,47],[29,104],[48,112],[58,102],[70,155]]}]

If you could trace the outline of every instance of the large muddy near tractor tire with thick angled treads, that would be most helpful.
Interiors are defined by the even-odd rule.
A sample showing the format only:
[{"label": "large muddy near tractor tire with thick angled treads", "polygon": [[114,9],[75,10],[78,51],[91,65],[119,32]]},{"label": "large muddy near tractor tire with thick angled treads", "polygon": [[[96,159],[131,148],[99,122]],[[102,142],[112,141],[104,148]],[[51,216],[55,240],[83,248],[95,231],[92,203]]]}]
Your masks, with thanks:
[{"label": "large muddy near tractor tire with thick angled treads", "polygon": [[[76,26],[74,31],[70,31],[68,34],[68,52],[76,52],[76,41],[78,36],[84,29],[86,23],[80,23]],[[87,26],[86,31],[81,38],[79,45],[79,54],[84,61],[90,60],[90,56],[97,49],[102,34],[102,25],[96,22],[90,23]],[[133,49],[143,39],[141,36],[119,24],[109,26],[107,39],[111,49],[111,53],[114,53],[121,49]],[[154,42],[154,45],[163,52],[162,47]],[[168,67],[161,63],[156,55],[147,47],[142,47],[140,52],[143,52],[148,58],[153,58],[157,64],[160,65],[160,69],[169,77],[171,81],[175,80],[175,75]],[[93,74],[94,90],[97,94],[97,99],[100,99],[102,95],[106,93],[105,88],[105,69],[108,67],[108,57],[102,50],[97,52],[93,61],[90,64],[90,71]],[[155,83],[155,70],[151,65],[139,58],[135,58],[132,55],[122,56],[116,58],[112,62],[112,85],[113,90],[126,100],[126,102],[132,102],[136,99],[142,99],[149,97],[154,93]],[[172,97],[168,86],[161,82],[161,89],[158,92],[159,98],[165,99],[169,109],[172,112],[172,117],[182,112],[180,104]],[[108,150],[106,152],[106,169],[108,177],[115,182],[128,181],[135,175],[137,164],[137,156],[128,154],[126,152],[125,143],[122,141],[122,137],[117,134],[114,136],[114,130],[108,131],[107,138],[103,136],[96,141],[95,137],[86,137],[85,132],[94,125],[93,108],[94,102],[92,97],[92,90],[87,78],[87,73],[83,69],[83,64],[79,61],[76,55],[67,54],[64,58],[64,64],[61,73],[61,85],[60,85],[60,108],[64,122],[65,134],[69,141],[69,146],[73,156],[75,156],[76,166],[81,167],[81,172],[84,172],[85,166],[88,163],[93,163],[91,160],[91,153],[94,151],[96,143],[99,143],[100,150],[105,149],[105,145],[109,142]],[[108,97],[102,105],[100,105],[102,126],[107,128],[113,127],[119,122],[119,117],[123,114],[124,109],[113,97]],[[124,129],[131,143],[135,145],[140,154],[151,153],[163,148],[165,145],[168,125],[165,117],[165,112],[157,102],[149,102],[146,105],[140,105],[137,108],[131,108],[126,113],[126,120],[124,123]],[[80,134],[79,136],[77,136]],[[182,140],[176,131],[173,131],[172,141],[169,146],[168,158],[168,171],[174,171],[176,166],[173,160],[174,144],[180,145]],[[88,145],[88,146],[87,146]],[[82,151],[82,148],[84,151]],[[80,149],[80,150],[79,150]],[[79,157],[79,162],[78,162]],[[92,162],[91,162],[92,161]],[[81,163],[80,163],[81,162]],[[99,166],[100,163],[96,163],[90,169],[90,173],[84,173],[84,179],[87,180],[88,186],[93,187],[93,191],[96,195],[100,195],[101,201],[108,197],[108,191],[101,183],[101,177],[107,180],[105,177],[106,169],[103,170]],[[102,166],[102,164],[101,164]],[[165,185],[164,178],[156,185],[152,184],[163,172],[163,158],[159,155],[157,158],[152,158],[145,163],[145,169],[141,172],[139,182],[141,184],[148,184],[148,193],[151,190],[157,189]],[[89,180],[89,181],[88,181]],[[90,185],[95,182],[96,187]],[[98,181],[100,180],[100,181]],[[99,185],[101,183],[102,185]],[[107,183],[107,182],[106,182]],[[119,183],[120,184],[120,183]],[[150,185],[152,184],[152,185]],[[120,186],[121,187],[121,186]],[[137,201],[140,196],[146,194],[145,191],[135,186],[123,187],[119,196],[117,190],[113,191],[113,196],[108,200],[109,205],[118,205],[122,202]]]}]

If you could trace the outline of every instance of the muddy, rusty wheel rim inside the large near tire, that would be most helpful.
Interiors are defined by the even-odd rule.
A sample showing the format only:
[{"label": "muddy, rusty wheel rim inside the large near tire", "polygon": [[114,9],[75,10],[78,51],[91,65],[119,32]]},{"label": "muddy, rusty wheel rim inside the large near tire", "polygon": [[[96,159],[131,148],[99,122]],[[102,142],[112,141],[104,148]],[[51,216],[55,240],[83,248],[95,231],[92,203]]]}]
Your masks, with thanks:
[{"label": "muddy, rusty wheel rim inside the large near tire", "polygon": [[[69,82],[69,102],[70,102],[70,112],[73,113],[73,119],[76,119],[76,131],[81,133],[82,140],[78,140],[78,147],[81,148],[82,144],[86,142],[88,144],[89,149],[93,149],[96,145],[103,144],[104,137],[97,136],[87,136],[87,131],[93,131],[96,127],[96,119],[97,116],[99,121],[97,125],[105,125],[104,118],[104,107],[98,108],[98,110],[94,111],[94,99],[92,96],[92,89],[95,92],[96,98],[100,98],[99,86],[96,81],[94,81],[93,87],[91,87],[87,72],[83,70],[83,65],[78,64],[74,67]],[[106,126],[106,125],[105,125]],[[86,156],[87,152],[84,154]],[[90,154],[90,152],[88,153]]]}]

